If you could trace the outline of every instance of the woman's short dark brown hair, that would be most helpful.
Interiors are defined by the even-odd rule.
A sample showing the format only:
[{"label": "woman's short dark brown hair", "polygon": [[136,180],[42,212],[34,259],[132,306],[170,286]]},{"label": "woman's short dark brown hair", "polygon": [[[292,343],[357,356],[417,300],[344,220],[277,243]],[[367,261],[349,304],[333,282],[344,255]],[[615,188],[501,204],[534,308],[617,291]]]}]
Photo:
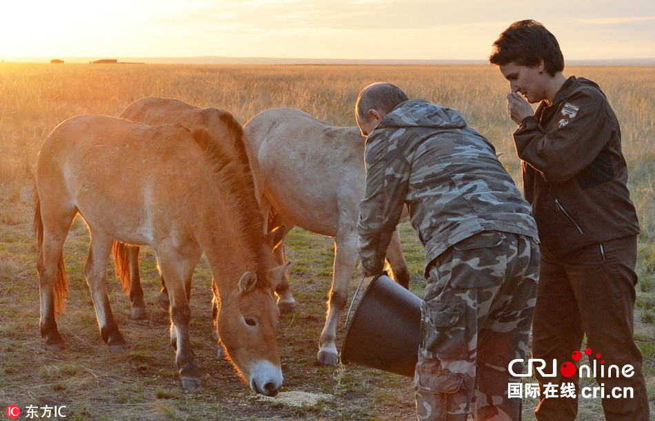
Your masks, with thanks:
[{"label": "woman's short dark brown hair", "polygon": [[496,65],[516,63],[536,68],[543,60],[550,76],[564,70],[564,56],[555,36],[541,23],[528,19],[512,23],[494,42],[489,61]]}]

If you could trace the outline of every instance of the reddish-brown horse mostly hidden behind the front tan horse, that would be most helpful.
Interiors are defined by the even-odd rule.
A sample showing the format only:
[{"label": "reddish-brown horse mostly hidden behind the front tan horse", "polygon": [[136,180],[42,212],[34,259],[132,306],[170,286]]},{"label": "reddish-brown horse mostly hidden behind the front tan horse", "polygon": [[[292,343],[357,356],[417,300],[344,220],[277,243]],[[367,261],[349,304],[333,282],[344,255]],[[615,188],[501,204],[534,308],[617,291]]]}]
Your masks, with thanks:
[{"label": "reddish-brown horse mostly hidden behind the front tan horse", "polygon": [[[223,116],[226,114],[230,113],[213,107],[205,109],[194,107],[177,99],[148,96],[137,99],[137,101],[128,105],[121,112],[120,117],[149,125],[179,123],[192,131],[206,130],[209,141],[221,145],[221,149],[226,154],[230,154],[233,164],[238,165],[241,169],[241,176],[244,179],[249,178],[246,182],[249,184],[255,183],[256,186],[256,180],[252,179],[248,151],[245,150],[249,143],[244,143],[241,137],[226,136],[225,125],[223,124]],[[245,192],[252,196],[250,191],[245,190]],[[256,205],[254,201],[259,198],[259,195],[252,201],[250,196],[246,200]],[[265,230],[265,227],[263,229]],[[283,235],[284,230],[280,229],[278,234]],[[139,247],[114,242],[114,263],[116,272],[123,281],[123,287],[128,290],[132,301],[130,317],[134,319],[145,318],[145,301],[143,300],[143,289],[141,289],[141,278],[139,276]],[[279,297],[285,298],[285,300],[288,300],[288,297],[291,296],[286,277],[278,283],[276,292]],[[162,307],[168,309],[168,293],[165,286],[162,287],[159,303]],[[221,356],[220,347],[219,356]]]}]

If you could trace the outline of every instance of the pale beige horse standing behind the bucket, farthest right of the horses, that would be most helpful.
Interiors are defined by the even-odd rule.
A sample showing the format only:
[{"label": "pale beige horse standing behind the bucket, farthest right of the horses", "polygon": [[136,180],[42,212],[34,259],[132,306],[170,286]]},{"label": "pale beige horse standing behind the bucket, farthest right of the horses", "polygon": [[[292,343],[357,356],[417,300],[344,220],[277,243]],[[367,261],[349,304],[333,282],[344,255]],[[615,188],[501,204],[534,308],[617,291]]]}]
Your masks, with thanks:
[{"label": "pale beige horse standing behind the bucket, farthest right of the horses", "polygon": [[[257,161],[253,171],[263,195],[263,213],[274,208],[268,228],[285,225],[290,230],[298,225],[335,237],[332,290],[317,358],[336,365],[336,324],[358,258],[365,138],[356,127],[335,127],[290,108],[260,112],[243,130],[245,139],[252,142],[251,160],[255,156]],[[278,262],[284,262],[283,247],[275,252]],[[396,282],[407,288],[410,275],[397,229],[386,257]]]}]

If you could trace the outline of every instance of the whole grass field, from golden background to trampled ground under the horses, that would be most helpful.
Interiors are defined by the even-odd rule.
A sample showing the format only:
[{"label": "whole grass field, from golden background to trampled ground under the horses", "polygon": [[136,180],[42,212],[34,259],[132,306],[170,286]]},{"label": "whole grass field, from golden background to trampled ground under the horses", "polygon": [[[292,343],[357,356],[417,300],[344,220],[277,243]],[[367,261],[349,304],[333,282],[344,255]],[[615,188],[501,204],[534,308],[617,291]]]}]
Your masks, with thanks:
[{"label": "whole grass field, from golden background to trampled ground under the horses", "polygon": [[[636,340],[655,413],[655,72],[652,68],[571,68],[567,74],[598,82],[622,124],[629,187],[639,236]],[[130,303],[110,274],[110,300],[129,351],[110,355],[102,342],[82,267],[88,232],[77,218],[66,243],[70,278],[68,311],[59,328],[68,350],[51,353],[39,338],[39,289],[32,234],[32,170],[48,133],[77,114],[118,115],[143,96],[165,96],[199,107],[222,107],[241,123],[271,107],[294,107],[334,125],[354,125],[356,96],[374,81],[390,81],[412,97],[457,108],[502,152],[520,184],[512,145],[514,123],[505,112],[507,83],[492,66],[210,66],[0,64],[0,402],[55,405],[67,420],[410,420],[409,378],[351,365],[315,362],[330,290],[332,239],[295,229],[288,258],[296,313],[280,320],[285,386],[277,398],[260,398],[227,362],[215,357],[211,336],[210,280],[201,263],[192,289],[192,345],[203,370],[203,393],[179,387],[168,345],[168,316],[157,305],[159,277],[152,252],[141,265],[146,320],[129,320]],[[403,224],[403,247],[412,291],[425,282],[422,249]],[[112,265],[109,265],[112,271]],[[352,289],[358,280],[353,276]],[[338,330],[343,340],[345,314]],[[602,419],[598,400],[581,399],[579,419]],[[526,400],[525,419],[535,402]],[[21,418],[24,419],[23,415]]]}]

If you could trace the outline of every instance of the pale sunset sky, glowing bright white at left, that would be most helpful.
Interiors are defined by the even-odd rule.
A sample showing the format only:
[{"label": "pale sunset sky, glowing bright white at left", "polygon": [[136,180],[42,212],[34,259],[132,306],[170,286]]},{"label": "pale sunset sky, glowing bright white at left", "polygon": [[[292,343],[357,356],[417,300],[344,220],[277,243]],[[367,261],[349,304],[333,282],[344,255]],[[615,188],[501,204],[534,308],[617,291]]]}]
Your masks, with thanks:
[{"label": "pale sunset sky, glowing bright white at left", "polygon": [[655,57],[654,0],[5,0],[3,57],[485,60],[535,19],[565,59]]}]

